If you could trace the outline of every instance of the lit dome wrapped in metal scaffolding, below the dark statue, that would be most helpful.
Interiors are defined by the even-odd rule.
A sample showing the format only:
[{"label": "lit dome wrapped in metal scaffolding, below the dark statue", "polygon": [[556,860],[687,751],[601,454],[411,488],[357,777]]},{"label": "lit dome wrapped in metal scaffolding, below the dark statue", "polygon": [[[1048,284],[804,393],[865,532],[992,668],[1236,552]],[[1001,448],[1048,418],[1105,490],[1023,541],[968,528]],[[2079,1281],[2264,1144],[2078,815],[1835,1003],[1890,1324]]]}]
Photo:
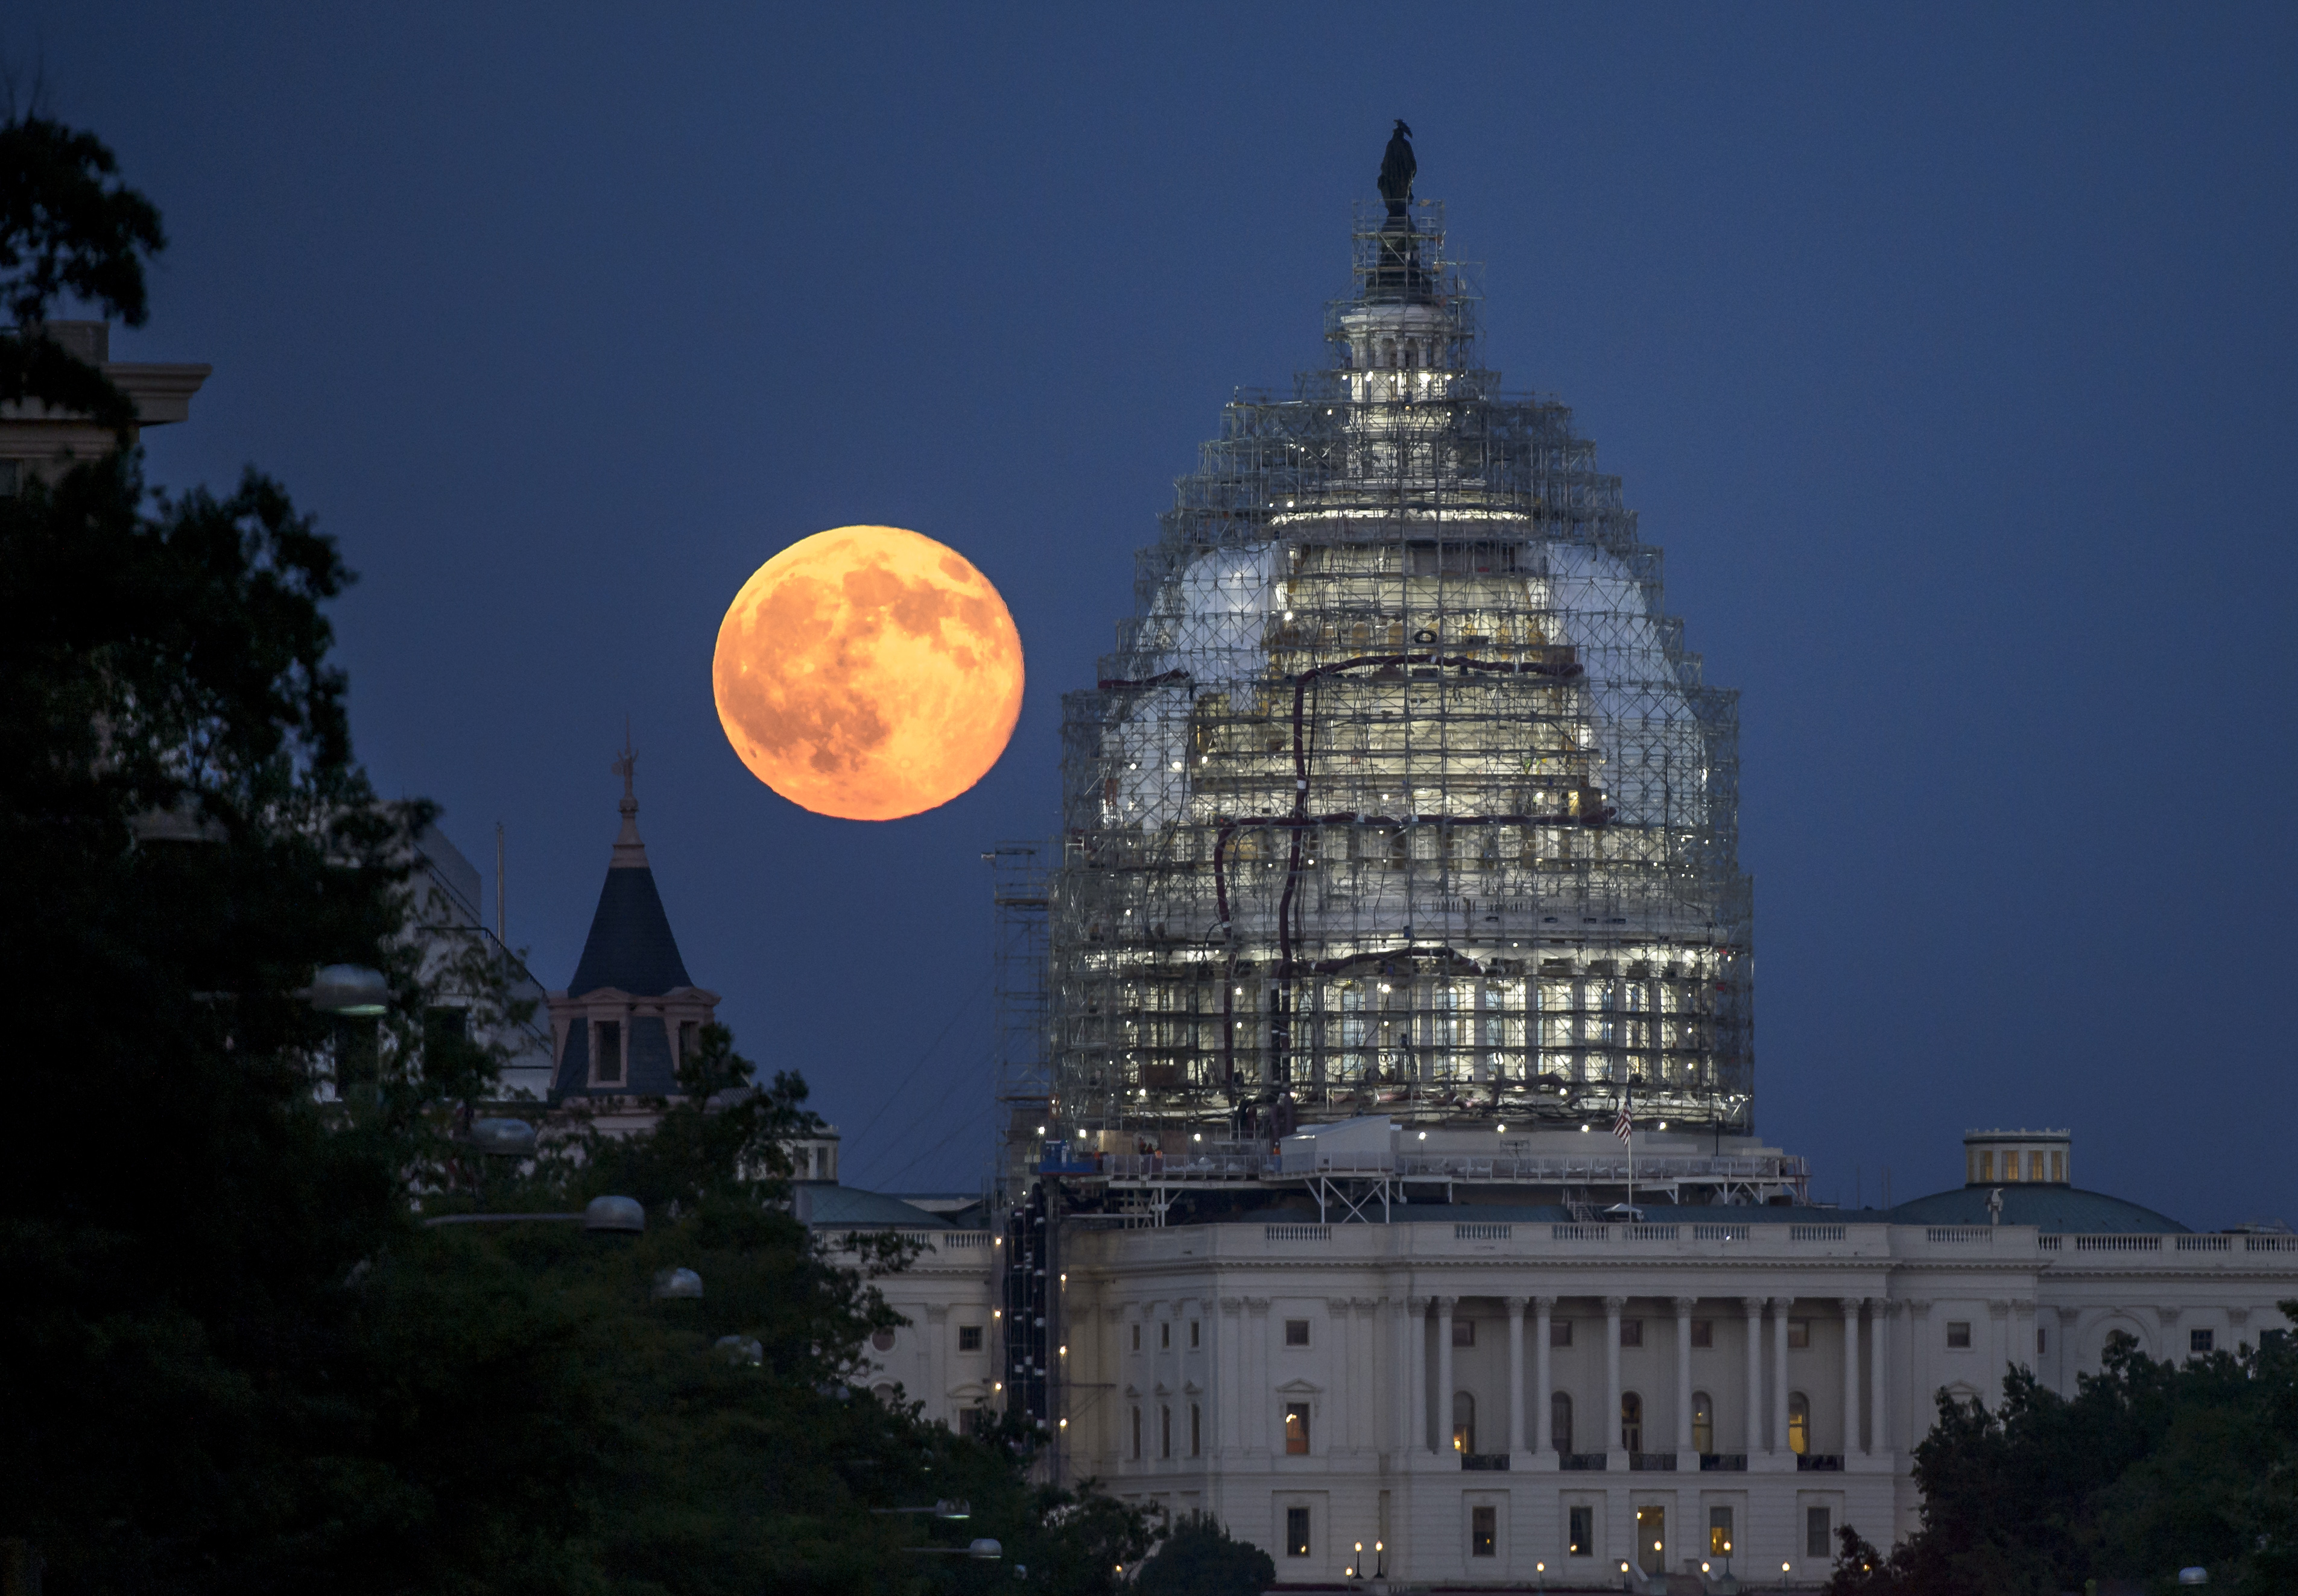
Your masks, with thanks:
[{"label": "lit dome wrapped in metal scaffolding, below the dark statue", "polygon": [[1393,209],[1333,365],[1223,411],[1062,700],[1055,1118],[1749,1132],[1735,694],[1570,411],[1475,365],[1441,204]]}]

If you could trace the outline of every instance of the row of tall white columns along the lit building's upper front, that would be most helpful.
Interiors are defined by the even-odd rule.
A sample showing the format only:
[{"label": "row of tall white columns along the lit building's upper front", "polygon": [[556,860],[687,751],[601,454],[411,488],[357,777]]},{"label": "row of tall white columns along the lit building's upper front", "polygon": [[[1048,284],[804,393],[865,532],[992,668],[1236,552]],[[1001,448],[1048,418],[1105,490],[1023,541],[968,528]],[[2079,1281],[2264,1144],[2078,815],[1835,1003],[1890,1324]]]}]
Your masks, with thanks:
[{"label": "row of tall white columns along the lit building's upper front", "polygon": [[[1450,1401],[1452,1401],[1452,1309],[1457,1307],[1457,1295],[1439,1297],[1411,1297],[1411,1316],[1404,1316],[1404,1302],[1397,1304],[1397,1339],[1406,1350],[1399,1369],[1399,1378],[1406,1385],[1406,1401],[1399,1410],[1411,1415],[1406,1431],[1409,1449],[1427,1451],[1429,1438],[1429,1412],[1427,1412],[1427,1309],[1436,1307],[1436,1392],[1439,1401],[1445,1403],[1445,1412],[1436,1415],[1441,1428],[1436,1431],[1436,1451],[1443,1451],[1445,1438],[1450,1435]],[[1533,1405],[1533,1444],[1535,1456],[1553,1451],[1553,1419],[1551,1419],[1551,1392],[1556,1389],[1549,1339],[1553,1325],[1553,1309],[1558,1297],[1503,1297],[1507,1304],[1507,1449],[1524,1451],[1524,1309],[1533,1309],[1533,1389],[1540,1401]],[[1627,1307],[1627,1297],[1604,1297],[1604,1451],[1618,1451],[1618,1424],[1620,1424],[1620,1309]],[[1795,1297],[1742,1297],[1742,1311],[1746,1314],[1746,1454],[1760,1451],[1786,1451],[1788,1449],[1788,1318],[1795,1307]],[[1889,1366],[1889,1320],[1896,1316],[1898,1304],[1875,1297],[1838,1297],[1843,1311],[1843,1451],[1848,1454],[1873,1454],[1889,1451],[1889,1408],[1884,1394],[1884,1371]],[[1691,1309],[1698,1307],[1698,1297],[1673,1297],[1675,1307],[1675,1451],[1689,1454],[1694,1449],[1691,1438]],[[1861,1369],[1861,1334],[1859,1323],[1864,1309],[1873,1307],[1866,1316],[1868,1323],[1868,1346],[1866,1346],[1866,1373],[1868,1373],[1868,1433],[1866,1447],[1861,1447],[1861,1424],[1859,1424],[1859,1369]],[[1772,1447],[1765,1447],[1763,1426],[1763,1325],[1765,1309],[1772,1318]],[[1657,1447],[1655,1447],[1657,1451]]]}]

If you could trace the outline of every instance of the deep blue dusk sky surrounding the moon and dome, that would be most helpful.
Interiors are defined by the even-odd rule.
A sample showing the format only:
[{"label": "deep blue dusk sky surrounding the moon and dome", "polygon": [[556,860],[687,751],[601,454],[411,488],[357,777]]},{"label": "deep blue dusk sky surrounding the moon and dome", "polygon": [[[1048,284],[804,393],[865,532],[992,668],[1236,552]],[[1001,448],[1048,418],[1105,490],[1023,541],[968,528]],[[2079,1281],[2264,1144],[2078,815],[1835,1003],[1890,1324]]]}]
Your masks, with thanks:
[{"label": "deep blue dusk sky surrounding the moon and dome", "polygon": [[[742,1047],[848,1178],[979,1178],[979,852],[1052,827],[1220,402],[1321,363],[1402,115],[1487,361],[1744,694],[1760,1130],[1822,1196],[2050,1123],[2084,1185],[2298,1219],[2291,7],[471,11],[18,5],[0,53],[168,216],[115,351],[216,374],[154,475],[260,462],[342,540],[358,749],[483,866],[508,824],[547,985],[627,714]],[[1004,762],[899,824],[710,705],[726,599],[846,521],[1030,650]]]}]

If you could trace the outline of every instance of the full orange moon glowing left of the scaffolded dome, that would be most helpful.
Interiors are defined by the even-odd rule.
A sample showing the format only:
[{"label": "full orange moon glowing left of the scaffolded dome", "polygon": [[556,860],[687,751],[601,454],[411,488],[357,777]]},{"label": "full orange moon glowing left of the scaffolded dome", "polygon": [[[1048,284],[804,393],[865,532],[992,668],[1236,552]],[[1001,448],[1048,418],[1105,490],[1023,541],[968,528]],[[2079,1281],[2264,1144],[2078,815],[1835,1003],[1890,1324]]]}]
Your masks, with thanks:
[{"label": "full orange moon glowing left of the scaffolded dome", "polygon": [[749,772],[816,815],[958,797],[1020,716],[1020,634],[965,556],[899,526],[804,537],[742,583],[710,666]]}]

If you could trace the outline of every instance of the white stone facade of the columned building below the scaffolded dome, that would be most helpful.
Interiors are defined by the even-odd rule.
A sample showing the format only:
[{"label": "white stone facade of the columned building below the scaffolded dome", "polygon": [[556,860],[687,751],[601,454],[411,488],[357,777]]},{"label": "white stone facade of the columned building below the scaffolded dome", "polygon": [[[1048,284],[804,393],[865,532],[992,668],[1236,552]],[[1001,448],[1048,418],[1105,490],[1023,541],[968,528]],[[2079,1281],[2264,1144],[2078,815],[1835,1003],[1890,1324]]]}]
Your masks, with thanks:
[{"label": "white stone facade of the columned building below the scaffolded dome", "polygon": [[[1995,1401],[2018,1362],[2073,1392],[2114,1330],[2236,1348],[2298,1297],[2289,1235],[1760,1215],[1069,1226],[1059,1470],[1216,1513],[1280,1585],[1618,1589],[1721,1575],[1726,1536],[1737,1578],[1818,1585],[1838,1525],[1914,1527],[1937,1389]],[[882,1373],[944,1421],[1002,1405],[956,1350],[1000,1327],[997,1238],[970,1235],[882,1281],[912,1320]]]}]

